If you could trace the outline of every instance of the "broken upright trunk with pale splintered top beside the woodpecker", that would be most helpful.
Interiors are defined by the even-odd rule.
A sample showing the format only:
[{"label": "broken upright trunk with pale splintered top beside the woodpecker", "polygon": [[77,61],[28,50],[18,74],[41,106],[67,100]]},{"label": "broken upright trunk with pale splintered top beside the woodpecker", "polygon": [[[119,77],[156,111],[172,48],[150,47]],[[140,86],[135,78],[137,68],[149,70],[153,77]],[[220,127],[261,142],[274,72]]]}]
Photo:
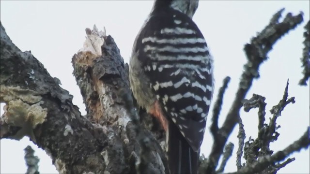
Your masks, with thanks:
[{"label": "broken upright trunk with pale splintered top beside the woodpecker", "polygon": [[111,36],[98,31],[96,26],[93,30],[86,29],[86,34],[84,47],[72,58],[73,74],[88,118],[112,132],[109,136],[112,146],[104,150],[109,158],[108,172],[124,173],[126,166],[133,173],[168,172],[161,146],[153,134],[140,125],[129,89],[128,64],[124,64],[119,48]]}]

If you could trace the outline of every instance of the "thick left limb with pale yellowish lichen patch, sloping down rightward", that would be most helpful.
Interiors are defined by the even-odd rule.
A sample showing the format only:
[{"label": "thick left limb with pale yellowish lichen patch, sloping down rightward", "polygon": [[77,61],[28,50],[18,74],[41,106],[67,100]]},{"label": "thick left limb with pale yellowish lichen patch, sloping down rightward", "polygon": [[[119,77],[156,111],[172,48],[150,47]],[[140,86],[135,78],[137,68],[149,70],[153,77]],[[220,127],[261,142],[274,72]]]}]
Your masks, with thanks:
[{"label": "thick left limb with pale yellowish lichen patch, sloping down rightward", "polygon": [[69,92],[0,27],[0,100],[6,103],[1,130],[8,130],[1,132],[1,139],[30,136],[60,173],[103,172],[100,153],[107,146],[106,134],[80,115]]}]

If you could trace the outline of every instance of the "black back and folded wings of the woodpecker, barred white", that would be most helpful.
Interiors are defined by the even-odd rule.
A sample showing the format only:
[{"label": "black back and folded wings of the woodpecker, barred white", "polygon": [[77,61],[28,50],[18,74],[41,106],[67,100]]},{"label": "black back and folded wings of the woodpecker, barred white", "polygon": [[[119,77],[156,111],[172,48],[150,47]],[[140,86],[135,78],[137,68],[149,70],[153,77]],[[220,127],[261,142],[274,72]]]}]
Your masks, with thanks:
[{"label": "black back and folded wings of the woodpecker, barred white", "polygon": [[197,151],[213,90],[212,59],[189,17],[178,12],[167,16],[151,16],[145,24],[139,58],[163,111]]}]

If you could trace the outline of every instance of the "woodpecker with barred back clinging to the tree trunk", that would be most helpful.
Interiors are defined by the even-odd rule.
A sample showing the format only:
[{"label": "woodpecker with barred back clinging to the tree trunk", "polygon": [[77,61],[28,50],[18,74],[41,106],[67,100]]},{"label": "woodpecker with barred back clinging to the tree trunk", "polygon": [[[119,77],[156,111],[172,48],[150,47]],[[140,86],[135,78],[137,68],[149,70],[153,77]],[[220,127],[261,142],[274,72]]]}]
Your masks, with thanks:
[{"label": "woodpecker with barred back clinging to the tree trunk", "polygon": [[198,0],[155,0],[133,45],[130,87],[167,136],[171,174],[198,172],[212,99],[213,58],[192,17]]}]

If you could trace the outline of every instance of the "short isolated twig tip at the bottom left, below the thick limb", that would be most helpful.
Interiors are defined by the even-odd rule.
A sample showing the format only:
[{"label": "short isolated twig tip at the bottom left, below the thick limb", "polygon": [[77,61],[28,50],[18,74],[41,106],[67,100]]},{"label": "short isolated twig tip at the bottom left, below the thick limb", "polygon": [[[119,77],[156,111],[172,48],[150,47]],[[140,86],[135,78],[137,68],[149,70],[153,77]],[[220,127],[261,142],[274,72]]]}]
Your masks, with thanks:
[{"label": "short isolated twig tip at the bottom left, below the thick limb", "polygon": [[25,149],[25,161],[27,165],[27,172],[26,174],[40,174],[39,173],[39,158],[34,156],[34,150],[28,145]]}]

